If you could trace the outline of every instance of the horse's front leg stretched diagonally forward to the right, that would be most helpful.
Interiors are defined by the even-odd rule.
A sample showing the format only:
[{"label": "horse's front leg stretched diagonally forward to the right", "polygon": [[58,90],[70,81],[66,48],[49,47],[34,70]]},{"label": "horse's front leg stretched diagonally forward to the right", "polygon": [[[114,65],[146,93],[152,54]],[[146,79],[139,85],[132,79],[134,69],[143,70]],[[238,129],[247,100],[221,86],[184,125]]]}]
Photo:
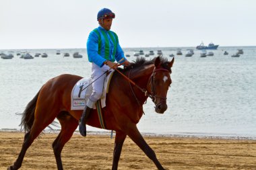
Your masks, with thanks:
[{"label": "horse's front leg stretched diagonally forward to the right", "polygon": [[137,146],[141,148],[141,150],[154,162],[158,169],[164,169],[164,167],[162,167],[161,163],[156,158],[156,154],[154,153],[152,148],[150,148],[150,146],[141,136],[139,130],[137,129],[136,124],[131,123],[128,126],[129,127],[127,129],[127,134],[131,138],[131,140],[133,140],[133,142],[135,142]]}]

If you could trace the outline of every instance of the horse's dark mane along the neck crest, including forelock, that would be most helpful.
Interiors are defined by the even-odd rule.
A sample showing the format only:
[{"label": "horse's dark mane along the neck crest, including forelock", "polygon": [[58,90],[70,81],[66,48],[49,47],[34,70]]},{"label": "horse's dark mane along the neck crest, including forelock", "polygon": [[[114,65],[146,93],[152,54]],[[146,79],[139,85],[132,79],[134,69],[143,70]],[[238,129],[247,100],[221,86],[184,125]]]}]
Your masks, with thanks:
[{"label": "horse's dark mane along the neck crest, including forelock", "polygon": [[[164,69],[167,69],[170,73],[170,67],[168,66],[168,59],[164,58],[162,56],[160,57],[160,65],[161,67],[163,67]],[[145,67],[147,65],[153,65],[155,60],[157,57],[153,58],[152,60],[146,60],[146,58],[144,57],[137,57],[136,60],[132,61],[131,64],[128,67],[125,67],[124,69],[121,69],[122,71],[127,71],[130,69],[136,69],[136,68],[140,68],[140,67]]]}]

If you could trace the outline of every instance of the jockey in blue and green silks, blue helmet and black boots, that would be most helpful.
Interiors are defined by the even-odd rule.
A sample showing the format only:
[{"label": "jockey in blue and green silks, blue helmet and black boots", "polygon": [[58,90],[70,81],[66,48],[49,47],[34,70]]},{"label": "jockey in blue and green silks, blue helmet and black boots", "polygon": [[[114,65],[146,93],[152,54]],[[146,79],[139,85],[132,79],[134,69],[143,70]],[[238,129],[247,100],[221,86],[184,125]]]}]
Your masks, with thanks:
[{"label": "jockey in blue and green silks, blue helmet and black boots", "polygon": [[109,69],[112,71],[117,69],[115,60],[119,61],[124,58],[121,64],[125,66],[130,63],[119,45],[117,34],[110,31],[113,18],[115,18],[115,13],[110,9],[103,8],[98,11],[97,20],[100,26],[90,32],[87,40],[88,60],[92,62],[92,81],[97,80],[92,83],[92,95],[86,102],[86,107],[79,121],[79,132],[82,136],[86,136],[86,122],[96,101],[102,96],[104,79],[106,78],[104,73]]}]

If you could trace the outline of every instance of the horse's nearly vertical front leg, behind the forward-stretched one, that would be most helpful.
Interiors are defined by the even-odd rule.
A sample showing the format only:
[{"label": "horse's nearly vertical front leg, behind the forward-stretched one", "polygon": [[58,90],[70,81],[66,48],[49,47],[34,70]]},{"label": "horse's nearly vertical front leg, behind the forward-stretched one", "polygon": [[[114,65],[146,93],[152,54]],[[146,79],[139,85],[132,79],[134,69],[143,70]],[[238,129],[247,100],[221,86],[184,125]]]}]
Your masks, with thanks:
[{"label": "horse's nearly vertical front leg, behind the forward-stretched one", "polygon": [[121,131],[116,132],[112,170],[117,170],[122,147],[123,147],[123,142],[125,142],[126,136],[127,134],[125,134],[124,132],[121,132]]}]

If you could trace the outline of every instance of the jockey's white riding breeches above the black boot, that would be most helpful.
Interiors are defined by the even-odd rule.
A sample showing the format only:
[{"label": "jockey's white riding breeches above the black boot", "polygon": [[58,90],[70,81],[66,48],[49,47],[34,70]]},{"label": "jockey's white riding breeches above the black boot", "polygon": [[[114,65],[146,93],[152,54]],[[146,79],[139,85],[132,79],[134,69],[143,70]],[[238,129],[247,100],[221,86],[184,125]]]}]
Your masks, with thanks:
[{"label": "jockey's white riding breeches above the black boot", "polygon": [[[94,62],[92,62],[92,94],[90,95],[86,105],[89,108],[94,108],[94,105],[98,99],[102,96],[104,80],[106,79],[106,71],[108,71],[110,67],[107,65],[103,65],[102,67],[98,67]],[[110,69],[113,71],[113,69]],[[104,74],[105,73],[105,74]],[[100,78],[98,78],[100,77]]]}]

